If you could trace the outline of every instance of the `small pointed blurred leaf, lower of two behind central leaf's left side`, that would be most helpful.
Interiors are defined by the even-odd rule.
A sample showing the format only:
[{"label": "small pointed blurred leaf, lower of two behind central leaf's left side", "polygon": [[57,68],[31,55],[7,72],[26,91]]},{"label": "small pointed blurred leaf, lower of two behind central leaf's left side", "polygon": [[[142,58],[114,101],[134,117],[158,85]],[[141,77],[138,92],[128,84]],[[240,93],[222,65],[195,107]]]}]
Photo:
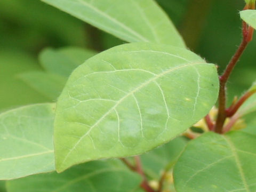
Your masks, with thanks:
[{"label": "small pointed blurred leaf, lower of two behind central leaf's left side", "polygon": [[59,97],[67,81],[66,77],[40,71],[23,73],[19,77],[33,89],[51,100]]}]

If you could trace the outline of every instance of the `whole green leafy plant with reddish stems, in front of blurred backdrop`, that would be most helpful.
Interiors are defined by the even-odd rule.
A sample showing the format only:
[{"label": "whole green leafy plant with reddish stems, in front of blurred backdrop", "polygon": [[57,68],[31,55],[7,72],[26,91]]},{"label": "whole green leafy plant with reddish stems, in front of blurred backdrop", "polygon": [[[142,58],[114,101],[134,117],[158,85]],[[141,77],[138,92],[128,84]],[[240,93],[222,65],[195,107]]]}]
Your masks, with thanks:
[{"label": "whole green leafy plant with reddish stems, in front of blurred backdrop", "polygon": [[256,136],[241,129],[256,85],[226,108],[226,83],[256,28],[254,0],[219,78],[154,1],[43,1],[130,43],[99,54],[48,49],[45,72],[19,76],[58,100],[0,114],[7,191],[256,191]]}]

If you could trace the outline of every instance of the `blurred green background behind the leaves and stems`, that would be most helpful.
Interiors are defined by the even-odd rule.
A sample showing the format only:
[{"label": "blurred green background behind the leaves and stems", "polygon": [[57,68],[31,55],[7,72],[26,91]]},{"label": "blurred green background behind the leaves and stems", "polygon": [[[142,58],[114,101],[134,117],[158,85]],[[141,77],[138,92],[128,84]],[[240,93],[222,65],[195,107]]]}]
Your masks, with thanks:
[{"label": "blurred green background behind the leaves and stems", "polygon": [[[238,12],[243,9],[244,1],[157,2],[177,26],[189,49],[217,64],[222,71],[241,41]],[[123,43],[39,0],[1,0],[0,111],[54,101],[19,78],[26,71],[43,70],[38,55],[46,47],[77,46],[99,52]],[[229,81],[229,98],[241,95],[255,80],[255,48],[254,38]]]}]

